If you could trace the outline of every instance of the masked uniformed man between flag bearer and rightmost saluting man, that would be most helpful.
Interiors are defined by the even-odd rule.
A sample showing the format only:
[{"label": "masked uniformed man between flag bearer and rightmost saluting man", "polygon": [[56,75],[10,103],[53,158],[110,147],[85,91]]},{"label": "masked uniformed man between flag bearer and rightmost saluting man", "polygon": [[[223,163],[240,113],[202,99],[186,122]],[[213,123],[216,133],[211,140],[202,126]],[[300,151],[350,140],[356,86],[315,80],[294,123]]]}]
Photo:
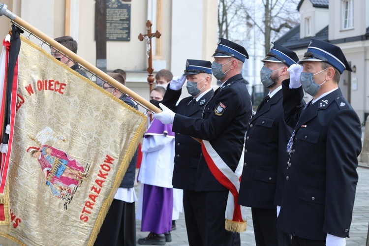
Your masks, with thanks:
[{"label": "masked uniformed man between flag bearer and rightmost saluting man", "polygon": [[[289,78],[288,67],[297,64],[299,58],[295,52],[274,43],[261,61],[264,66],[260,79],[270,92],[260,103],[247,131],[238,201],[251,207],[256,245],[277,246],[277,207],[274,203],[277,172],[278,165],[283,166],[282,172],[286,170],[288,153],[285,146],[292,134],[292,128],[284,123],[281,89],[282,81]],[[279,183],[283,189],[284,182]],[[279,245],[291,245],[291,237],[288,234],[281,237]]]}]

